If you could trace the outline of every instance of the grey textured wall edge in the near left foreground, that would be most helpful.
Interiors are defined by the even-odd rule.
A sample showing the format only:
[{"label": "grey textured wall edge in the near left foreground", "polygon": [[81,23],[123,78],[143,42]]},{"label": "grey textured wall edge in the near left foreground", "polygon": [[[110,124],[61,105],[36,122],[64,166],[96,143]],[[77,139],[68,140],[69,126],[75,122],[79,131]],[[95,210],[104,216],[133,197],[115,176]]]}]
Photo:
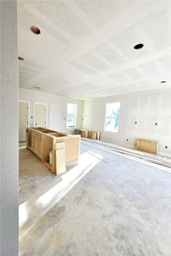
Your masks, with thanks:
[{"label": "grey textured wall edge in the near left foreground", "polygon": [[18,256],[17,1],[0,1],[1,19],[1,256]]}]

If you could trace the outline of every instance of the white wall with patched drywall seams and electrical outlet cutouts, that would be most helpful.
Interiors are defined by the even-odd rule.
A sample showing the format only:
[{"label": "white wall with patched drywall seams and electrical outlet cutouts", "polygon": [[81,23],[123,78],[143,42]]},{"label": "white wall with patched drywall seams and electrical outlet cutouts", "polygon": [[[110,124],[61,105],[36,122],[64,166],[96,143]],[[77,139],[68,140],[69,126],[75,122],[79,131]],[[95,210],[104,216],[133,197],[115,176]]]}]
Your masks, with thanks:
[{"label": "white wall with patched drywall seams and electrical outlet cutouts", "polygon": [[[170,97],[170,90],[153,90],[83,101],[81,128],[102,131],[103,141],[126,147],[136,148],[138,138],[159,141],[158,154],[170,157]],[[118,101],[118,134],[104,133],[106,103]]]}]

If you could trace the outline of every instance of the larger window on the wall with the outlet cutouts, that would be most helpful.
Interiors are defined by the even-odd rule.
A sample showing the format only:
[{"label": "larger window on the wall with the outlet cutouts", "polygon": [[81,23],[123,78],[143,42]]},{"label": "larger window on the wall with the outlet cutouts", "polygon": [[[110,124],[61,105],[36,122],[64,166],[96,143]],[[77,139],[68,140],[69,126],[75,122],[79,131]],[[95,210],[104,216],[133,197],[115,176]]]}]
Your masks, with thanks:
[{"label": "larger window on the wall with the outlet cutouts", "polygon": [[118,132],[120,102],[106,103],[105,132]]}]

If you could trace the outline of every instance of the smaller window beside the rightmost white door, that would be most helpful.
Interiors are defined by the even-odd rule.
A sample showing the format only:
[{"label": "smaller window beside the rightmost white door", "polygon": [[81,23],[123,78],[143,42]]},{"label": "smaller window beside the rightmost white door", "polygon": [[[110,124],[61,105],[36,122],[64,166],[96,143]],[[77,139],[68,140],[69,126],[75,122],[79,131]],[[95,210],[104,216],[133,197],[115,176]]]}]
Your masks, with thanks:
[{"label": "smaller window beside the rightmost white door", "polygon": [[67,128],[76,126],[77,104],[67,104]]}]

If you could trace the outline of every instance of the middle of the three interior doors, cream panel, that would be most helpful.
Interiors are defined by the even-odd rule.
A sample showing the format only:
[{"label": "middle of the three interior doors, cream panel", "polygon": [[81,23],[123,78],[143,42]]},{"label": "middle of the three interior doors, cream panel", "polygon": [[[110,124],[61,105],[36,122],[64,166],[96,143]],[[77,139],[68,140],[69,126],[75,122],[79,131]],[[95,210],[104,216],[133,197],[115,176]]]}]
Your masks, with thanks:
[{"label": "middle of the three interior doors, cream panel", "polygon": [[46,105],[35,104],[35,127],[46,127]]}]

